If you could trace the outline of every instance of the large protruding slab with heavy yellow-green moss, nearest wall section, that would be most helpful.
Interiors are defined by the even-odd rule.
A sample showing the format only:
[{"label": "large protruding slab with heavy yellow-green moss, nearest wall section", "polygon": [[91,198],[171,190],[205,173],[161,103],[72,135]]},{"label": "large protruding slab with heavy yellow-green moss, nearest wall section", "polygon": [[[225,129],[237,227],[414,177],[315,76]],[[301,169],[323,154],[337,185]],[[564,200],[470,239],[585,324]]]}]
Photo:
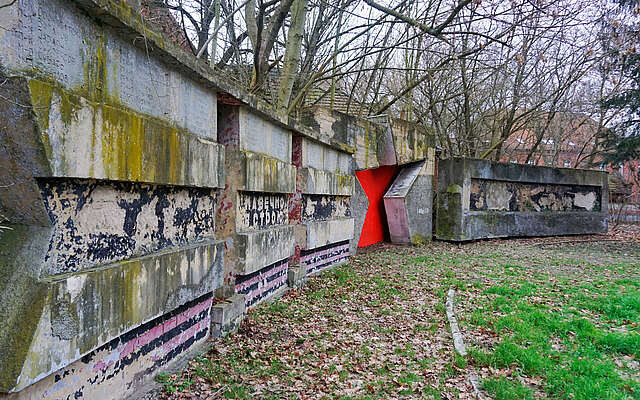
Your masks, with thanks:
[{"label": "large protruding slab with heavy yellow-green moss, nearest wall section", "polygon": [[29,91],[50,176],[224,186],[212,140],[32,79]]}]

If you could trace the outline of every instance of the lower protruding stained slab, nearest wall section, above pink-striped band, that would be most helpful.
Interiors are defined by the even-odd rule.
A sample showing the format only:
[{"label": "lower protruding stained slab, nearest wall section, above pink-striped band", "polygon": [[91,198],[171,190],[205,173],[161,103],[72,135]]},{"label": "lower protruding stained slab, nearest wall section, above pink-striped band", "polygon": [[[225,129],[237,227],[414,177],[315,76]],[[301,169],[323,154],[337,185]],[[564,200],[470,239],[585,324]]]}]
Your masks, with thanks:
[{"label": "lower protruding stained slab, nearest wall section, above pink-striped band", "polygon": [[[43,281],[43,302],[19,376],[21,390],[146,321],[222,285],[222,241],[158,252]],[[7,371],[3,368],[4,371]],[[3,376],[3,381],[10,377]]]}]

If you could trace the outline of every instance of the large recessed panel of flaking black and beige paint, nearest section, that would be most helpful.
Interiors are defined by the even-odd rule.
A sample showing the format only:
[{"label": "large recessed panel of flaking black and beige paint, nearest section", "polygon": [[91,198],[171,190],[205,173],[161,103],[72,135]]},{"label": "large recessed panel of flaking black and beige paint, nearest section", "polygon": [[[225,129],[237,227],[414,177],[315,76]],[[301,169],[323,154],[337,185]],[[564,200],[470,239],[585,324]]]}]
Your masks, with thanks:
[{"label": "large recessed panel of flaking black and beige paint, nearest section", "polygon": [[53,225],[48,275],[214,237],[215,190],[88,179],[39,184]]}]

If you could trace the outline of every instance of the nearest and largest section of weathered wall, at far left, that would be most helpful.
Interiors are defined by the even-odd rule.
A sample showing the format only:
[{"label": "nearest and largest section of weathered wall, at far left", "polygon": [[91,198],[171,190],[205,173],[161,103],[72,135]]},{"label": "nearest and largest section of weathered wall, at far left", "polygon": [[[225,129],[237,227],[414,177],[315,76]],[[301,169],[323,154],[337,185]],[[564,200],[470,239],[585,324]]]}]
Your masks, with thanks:
[{"label": "nearest and largest section of weathered wall, at far left", "polygon": [[[131,387],[204,339],[206,305],[197,328],[166,321],[223,282],[216,92],[91,4],[0,9],[0,212],[13,228],[0,239],[0,392]],[[158,348],[132,341],[165,328]]]}]

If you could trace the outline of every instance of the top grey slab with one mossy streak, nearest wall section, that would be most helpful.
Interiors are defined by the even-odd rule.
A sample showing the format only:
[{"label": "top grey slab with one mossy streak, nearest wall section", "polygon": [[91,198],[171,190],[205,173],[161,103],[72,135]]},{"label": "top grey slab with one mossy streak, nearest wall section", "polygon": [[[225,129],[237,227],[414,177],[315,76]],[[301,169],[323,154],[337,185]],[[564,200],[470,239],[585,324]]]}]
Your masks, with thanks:
[{"label": "top grey slab with one mossy streak, nearest wall section", "polygon": [[208,139],[216,95],[63,0],[0,10],[0,63],[94,102],[124,106]]}]

